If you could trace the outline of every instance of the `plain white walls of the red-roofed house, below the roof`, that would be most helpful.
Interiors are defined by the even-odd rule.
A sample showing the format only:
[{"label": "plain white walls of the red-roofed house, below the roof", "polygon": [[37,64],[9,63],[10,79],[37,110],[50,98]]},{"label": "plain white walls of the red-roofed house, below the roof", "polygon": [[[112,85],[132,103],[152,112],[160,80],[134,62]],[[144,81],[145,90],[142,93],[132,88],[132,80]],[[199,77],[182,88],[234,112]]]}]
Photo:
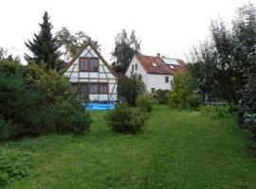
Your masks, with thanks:
[{"label": "plain white walls of the red-roofed house, below the roof", "polygon": [[[136,64],[137,64],[137,70],[136,70]],[[134,72],[132,71],[132,66],[134,65]],[[155,90],[161,89],[161,90],[170,90],[171,89],[171,80],[173,80],[172,75],[159,75],[159,74],[148,74],[140,64],[140,62],[137,60],[136,57],[133,58],[131,61],[125,75],[127,77],[131,77],[132,75],[141,75],[142,80],[146,85],[146,89],[148,92],[152,92],[152,88]],[[169,77],[169,82],[165,82],[165,77]]]}]

